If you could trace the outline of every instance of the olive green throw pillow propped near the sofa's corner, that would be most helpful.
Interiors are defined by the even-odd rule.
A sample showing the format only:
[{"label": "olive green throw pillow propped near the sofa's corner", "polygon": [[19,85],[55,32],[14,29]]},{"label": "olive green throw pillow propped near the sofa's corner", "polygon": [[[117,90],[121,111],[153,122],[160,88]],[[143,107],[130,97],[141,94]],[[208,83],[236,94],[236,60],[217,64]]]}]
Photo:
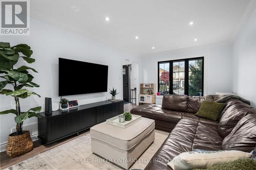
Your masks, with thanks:
[{"label": "olive green throw pillow propped near the sofa's corner", "polygon": [[199,111],[196,113],[196,116],[217,121],[225,106],[225,103],[204,101],[201,104]]}]

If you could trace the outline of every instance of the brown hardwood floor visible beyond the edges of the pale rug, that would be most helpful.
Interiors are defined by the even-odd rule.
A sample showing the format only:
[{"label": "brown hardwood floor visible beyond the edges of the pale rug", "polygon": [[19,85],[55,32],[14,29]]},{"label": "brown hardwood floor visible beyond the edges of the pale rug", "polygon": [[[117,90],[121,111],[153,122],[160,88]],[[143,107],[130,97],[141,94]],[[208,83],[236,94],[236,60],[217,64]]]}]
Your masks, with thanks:
[{"label": "brown hardwood floor visible beyond the edges of the pale rug", "polygon": [[[125,104],[124,105],[124,111],[130,111],[131,109],[133,109],[134,107],[136,107],[137,105],[132,105],[132,104]],[[29,153],[26,153],[26,154],[23,154],[23,155],[20,155],[20,156],[17,156],[15,158],[10,158],[6,152],[1,152],[0,153],[0,161],[1,161],[1,164],[0,164],[0,168],[1,169],[5,169],[9,166],[12,166],[16,163],[19,163],[19,162],[22,162],[26,159],[29,159],[33,156],[36,156],[40,153],[43,153],[43,152],[46,152],[52,148],[55,148],[55,147],[58,147],[59,145],[61,144],[64,144],[66,142],[69,142],[75,138],[78,138],[84,134],[87,134],[87,133],[90,133],[90,130],[87,130],[87,131],[84,131],[84,132],[81,132],[78,136],[76,135],[73,135],[73,136],[70,136],[70,137],[67,137],[63,140],[60,140],[60,141],[57,141],[57,142],[54,142],[52,144],[48,144],[48,145],[44,145],[44,144],[41,144],[39,140],[35,140],[33,143],[34,143],[34,148],[31,152]]]}]

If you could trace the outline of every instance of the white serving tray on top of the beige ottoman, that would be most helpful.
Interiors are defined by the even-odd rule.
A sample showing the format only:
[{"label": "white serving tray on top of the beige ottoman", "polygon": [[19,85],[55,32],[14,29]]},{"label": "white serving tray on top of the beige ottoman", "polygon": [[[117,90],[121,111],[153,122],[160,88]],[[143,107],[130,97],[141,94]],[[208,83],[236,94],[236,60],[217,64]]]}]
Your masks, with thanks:
[{"label": "white serving tray on top of the beige ottoman", "polygon": [[134,123],[138,122],[141,119],[141,116],[139,116],[139,115],[136,115],[136,114],[132,114],[132,115],[133,115],[132,120],[120,123],[119,117],[118,117],[119,115],[118,115],[118,116],[107,119],[106,124],[117,126],[120,128],[127,128],[127,127],[133,125]]}]

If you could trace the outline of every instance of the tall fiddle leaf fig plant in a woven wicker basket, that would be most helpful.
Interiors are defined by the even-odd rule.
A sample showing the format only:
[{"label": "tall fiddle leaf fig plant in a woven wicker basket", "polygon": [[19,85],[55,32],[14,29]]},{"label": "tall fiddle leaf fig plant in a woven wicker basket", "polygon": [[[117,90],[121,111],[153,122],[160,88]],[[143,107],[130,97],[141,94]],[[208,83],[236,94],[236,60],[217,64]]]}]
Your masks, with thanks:
[{"label": "tall fiddle leaf fig plant in a woven wicker basket", "polygon": [[33,51],[27,44],[18,44],[10,46],[9,42],[0,42],[0,94],[12,96],[15,101],[15,109],[1,111],[0,114],[14,114],[16,123],[16,132],[8,136],[6,152],[10,157],[15,157],[33,149],[33,142],[29,131],[23,131],[23,122],[30,117],[40,117],[36,112],[41,107],[34,107],[24,111],[20,108],[20,100],[24,100],[31,95],[40,95],[28,90],[27,87],[39,87],[35,84],[31,71],[37,72],[34,68],[26,65],[16,66],[19,59],[27,63],[35,62],[31,58]]}]

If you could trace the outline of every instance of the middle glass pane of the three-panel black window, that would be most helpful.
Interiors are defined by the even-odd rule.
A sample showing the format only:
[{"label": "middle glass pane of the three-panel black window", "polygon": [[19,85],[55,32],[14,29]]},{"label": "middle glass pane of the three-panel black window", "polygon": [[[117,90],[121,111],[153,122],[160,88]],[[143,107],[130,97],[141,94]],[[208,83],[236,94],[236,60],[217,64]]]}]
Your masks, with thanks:
[{"label": "middle glass pane of the three-panel black window", "polygon": [[173,94],[184,94],[185,89],[185,61],[173,62]]}]

